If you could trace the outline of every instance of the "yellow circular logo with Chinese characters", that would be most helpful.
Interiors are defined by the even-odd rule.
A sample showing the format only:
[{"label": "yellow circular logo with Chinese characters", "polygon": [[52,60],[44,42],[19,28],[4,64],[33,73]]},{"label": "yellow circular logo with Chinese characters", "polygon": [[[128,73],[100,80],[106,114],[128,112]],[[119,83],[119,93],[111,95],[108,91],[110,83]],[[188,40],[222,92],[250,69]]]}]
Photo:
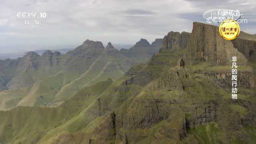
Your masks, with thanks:
[{"label": "yellow circular logo with Chinese characters", "polygon": [[240,26],[234,20],[225,20],[220,24],[219,32],[226,40],[234,40],[240,34]]}]

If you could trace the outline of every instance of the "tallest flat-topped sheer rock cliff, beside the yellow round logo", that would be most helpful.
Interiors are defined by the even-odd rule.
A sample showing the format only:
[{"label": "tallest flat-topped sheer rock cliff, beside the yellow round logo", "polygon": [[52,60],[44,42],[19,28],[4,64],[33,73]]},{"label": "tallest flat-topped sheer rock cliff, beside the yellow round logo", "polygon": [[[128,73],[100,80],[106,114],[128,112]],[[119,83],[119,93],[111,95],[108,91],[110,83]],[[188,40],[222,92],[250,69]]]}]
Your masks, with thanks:
[{"label": "tallest flat-topped sheer rock cliff, beside the yellow round logo", "polygon": [[218,26],[193,23],[191,40],[186,48],[186,60],[190,63],[210,62],[212,65],[230,65],[232,56],[238,57],[240,64],[247,62],[229,40],[222,38]]}]

